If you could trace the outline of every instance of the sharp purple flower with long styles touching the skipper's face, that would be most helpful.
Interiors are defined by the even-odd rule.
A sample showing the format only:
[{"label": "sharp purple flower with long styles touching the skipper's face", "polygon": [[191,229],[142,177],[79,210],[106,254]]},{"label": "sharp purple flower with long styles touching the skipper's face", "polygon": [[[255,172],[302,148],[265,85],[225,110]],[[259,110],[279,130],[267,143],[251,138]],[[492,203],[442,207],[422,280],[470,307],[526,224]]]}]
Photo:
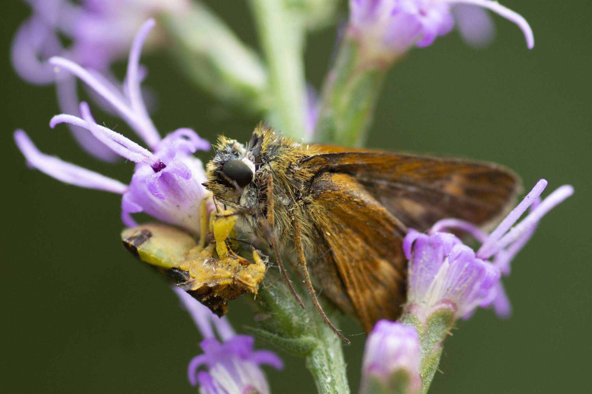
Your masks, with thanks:
[{"label": "sharp purple flower with long styles touching the skipper's face", "polygon": [[[65,58],[53,57],[49,60],[54,66],[85,82],[150,147],[143,148],[120,133],[98,125],[86,103],[79,106],[81,118],[62,114],[50,121],[52,128],[58,123],[74,125],[92,135],[96,144],[136,162],[129,185],[41,153],[24,131],[16,131],[14,138],[31,167],[66,183],[122,194],[121,216],[127,226],[136,225],[131,213],[144,211],[195,234],[200,230],[201,201],[209,194],[201,185],[205,181],[203,165],[192,154],[197,149],[209,149],[210,144],[186,128],[161,139],[147,115],[140,95],[139,58],[141,45],[153,25],[152,19],[144,23],[134,39],[123,89]],[[208,208],[211,210],[212,207],[210,199]]]}]

